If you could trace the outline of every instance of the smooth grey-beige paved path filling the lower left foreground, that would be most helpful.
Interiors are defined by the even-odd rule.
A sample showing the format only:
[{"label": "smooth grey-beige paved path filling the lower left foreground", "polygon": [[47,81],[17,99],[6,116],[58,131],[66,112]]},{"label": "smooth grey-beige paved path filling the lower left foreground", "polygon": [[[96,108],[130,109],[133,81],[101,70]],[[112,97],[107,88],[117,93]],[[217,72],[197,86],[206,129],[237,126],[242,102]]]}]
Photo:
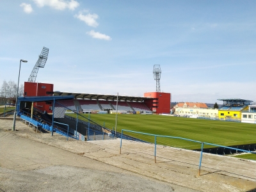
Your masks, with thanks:
[{"label": "smooth grey-beige paved path filling the lower left foreground", "polygon": [[[196,191],[30,140],[18,132],[22,131],[0,129],[0,191]],[[55,139],[68,143],[62,138]]]}]

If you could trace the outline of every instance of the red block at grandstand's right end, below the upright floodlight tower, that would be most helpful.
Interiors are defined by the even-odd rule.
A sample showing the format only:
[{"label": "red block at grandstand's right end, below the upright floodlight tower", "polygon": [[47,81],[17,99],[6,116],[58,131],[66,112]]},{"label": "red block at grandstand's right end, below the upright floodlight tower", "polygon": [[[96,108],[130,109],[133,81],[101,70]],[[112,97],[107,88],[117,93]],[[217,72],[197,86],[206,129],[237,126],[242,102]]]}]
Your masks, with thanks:
[{"label": "red block at grandstand's right end, below the upright floodlight tower", "polygon": [[149,92],[144,93],[144,97],[156,98],[154,100],[145,100],[147,107],[155,113],[170,113],[171,93]]}]

